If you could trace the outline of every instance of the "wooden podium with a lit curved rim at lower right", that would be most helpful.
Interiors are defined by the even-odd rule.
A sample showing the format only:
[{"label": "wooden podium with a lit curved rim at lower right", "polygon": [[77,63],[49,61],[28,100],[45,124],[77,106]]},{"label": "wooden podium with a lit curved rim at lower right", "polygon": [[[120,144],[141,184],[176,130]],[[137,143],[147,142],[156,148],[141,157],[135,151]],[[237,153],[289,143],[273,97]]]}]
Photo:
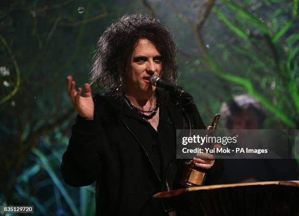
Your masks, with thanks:
[{"label": "wooden podium with a lit curved rim at lower right", "polygon": [[299,181],[192,187],[153,198],[177,216],[299,216]]}]

